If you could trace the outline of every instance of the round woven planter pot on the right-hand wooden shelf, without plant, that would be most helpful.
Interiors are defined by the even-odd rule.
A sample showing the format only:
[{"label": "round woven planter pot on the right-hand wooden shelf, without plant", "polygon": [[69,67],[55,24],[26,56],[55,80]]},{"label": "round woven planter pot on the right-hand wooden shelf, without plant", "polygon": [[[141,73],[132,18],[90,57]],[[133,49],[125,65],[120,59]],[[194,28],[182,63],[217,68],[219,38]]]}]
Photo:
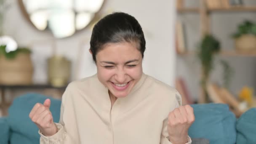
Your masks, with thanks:
[{"label": "round woven planter pot on the right-hand wooden shelf, without plant", "polygon": [[251,34],[242,35],[235,39],[237,51],[251,52],[256,51],[256,36]]}]

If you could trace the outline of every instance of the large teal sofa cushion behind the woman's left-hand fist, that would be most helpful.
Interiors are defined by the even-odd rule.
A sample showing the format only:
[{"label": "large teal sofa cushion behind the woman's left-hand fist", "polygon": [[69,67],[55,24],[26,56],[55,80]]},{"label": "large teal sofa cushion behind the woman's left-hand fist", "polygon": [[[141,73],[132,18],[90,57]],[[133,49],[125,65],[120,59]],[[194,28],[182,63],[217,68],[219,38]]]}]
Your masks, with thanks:
[{"label": "large teal sofa cushion behind the woman's left-hand fist", "polygon": [[[59,122],[61,101],[46,97],[37,93],[28,93],[14,99],[13,104],[8,109],[8,124],[11,129],[11,144],[27,143],[38,144],[40,135],[35,123],[29,118],[29,113],[36,103],[42,103],[45,99],[51,99],[50,110],[53,115],[54,122]],[[25,144],[24,143],[24,144]]]}]

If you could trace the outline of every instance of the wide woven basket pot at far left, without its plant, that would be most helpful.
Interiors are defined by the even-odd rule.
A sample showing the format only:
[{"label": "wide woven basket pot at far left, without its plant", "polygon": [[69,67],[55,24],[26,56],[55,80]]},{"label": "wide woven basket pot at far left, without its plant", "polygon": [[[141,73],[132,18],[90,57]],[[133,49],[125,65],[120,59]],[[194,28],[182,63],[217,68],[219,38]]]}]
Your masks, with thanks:
[{"label": "wide woven basket pot at far left, without its plant", "polygon": [[0,84],[32,84],[33,65],[29,53],[18,53],[14,59],[0,56]]}]

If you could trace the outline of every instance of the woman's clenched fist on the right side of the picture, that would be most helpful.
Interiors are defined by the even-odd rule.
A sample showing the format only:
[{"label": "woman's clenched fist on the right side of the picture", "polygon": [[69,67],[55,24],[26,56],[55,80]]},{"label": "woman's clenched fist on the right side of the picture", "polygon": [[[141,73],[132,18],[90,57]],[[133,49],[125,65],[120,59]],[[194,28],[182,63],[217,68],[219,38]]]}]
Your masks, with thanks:
[{"label": "woman's clenched fist on the right side of the picture", "polygon": [[194,121],[195,115],[191,106],[175,108],[168,116],[169,140],[173,144],[186,144],[189,127]]}]

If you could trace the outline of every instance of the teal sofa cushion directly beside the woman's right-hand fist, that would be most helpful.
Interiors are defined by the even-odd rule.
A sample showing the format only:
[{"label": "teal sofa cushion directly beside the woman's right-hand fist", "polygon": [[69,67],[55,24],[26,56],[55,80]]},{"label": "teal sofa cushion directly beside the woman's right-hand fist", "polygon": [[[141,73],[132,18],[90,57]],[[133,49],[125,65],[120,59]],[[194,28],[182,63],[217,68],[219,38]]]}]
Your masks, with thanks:
[{"label": "teal sofa cushion directly beside the woman's right-hand fist", "polygon": [[227,104],[192,104],[195,122],[189,128],[191,138],[205,138],[210,144],[235,144],[235,115]]}]

